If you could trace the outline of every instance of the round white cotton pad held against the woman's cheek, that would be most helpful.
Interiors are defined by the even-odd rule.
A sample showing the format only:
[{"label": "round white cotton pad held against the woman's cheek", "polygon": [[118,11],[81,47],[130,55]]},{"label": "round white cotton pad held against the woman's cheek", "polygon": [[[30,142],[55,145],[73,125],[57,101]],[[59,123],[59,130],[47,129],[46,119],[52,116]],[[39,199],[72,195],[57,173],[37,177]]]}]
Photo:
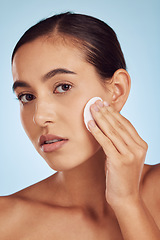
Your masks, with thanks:
[{"label": "round white cotton pad held against the woman's cheek", "polygon": [[[92,104],[94,104],[97,100],[101,100],[102,101],[102,99],[100,98],[100,97],[93,97],[93,98],[91,98],[88,102],[87,102],[87,104],[86,104],[86,106],[85,106],[85,108],[84,108],[84,113],[83,113],[83,115],[84,115],[84,123],[85,123],[85,125],[86,125],[86,128],[89,130],[89,128],[88,128],[88,126],[87,126],[87,123],[90,121],[90,120],[93,120],[93,117],[92,117],[92,115],[91,115],[91,112],[90,112],[90,106],[92,105]],[[90,131],[90,130],[89,130]]]}]

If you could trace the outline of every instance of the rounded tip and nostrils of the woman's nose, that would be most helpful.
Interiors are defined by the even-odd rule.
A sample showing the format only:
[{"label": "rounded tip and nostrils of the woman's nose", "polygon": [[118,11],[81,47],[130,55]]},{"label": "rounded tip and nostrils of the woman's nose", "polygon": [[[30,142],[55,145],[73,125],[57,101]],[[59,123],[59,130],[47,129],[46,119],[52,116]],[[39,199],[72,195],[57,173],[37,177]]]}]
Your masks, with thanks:
[{"label": "rounded tip and nostrils of the woman's nose", "polygon": [[45,101],[37,102],[33,122],[41,127],[45,127],[48,123],[54,123],[55,112],[53,106]]}]

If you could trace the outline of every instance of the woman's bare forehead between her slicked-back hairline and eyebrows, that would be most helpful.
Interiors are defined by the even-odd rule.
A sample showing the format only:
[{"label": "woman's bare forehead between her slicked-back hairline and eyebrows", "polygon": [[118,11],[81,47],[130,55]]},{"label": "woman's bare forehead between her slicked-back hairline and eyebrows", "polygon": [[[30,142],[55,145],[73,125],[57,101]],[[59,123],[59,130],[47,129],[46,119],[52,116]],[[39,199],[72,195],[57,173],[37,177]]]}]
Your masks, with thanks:
[{"label": "woman's bare forehead between her slicked-back hairline and eyebrows", "polygon": [[40,78],[54,69],[67,69],[75,73],[95,72],[80,49],[71,44],[53,43],[43,39],[24,44],[13,59],[14,79],[28,79],[33,76]]}]

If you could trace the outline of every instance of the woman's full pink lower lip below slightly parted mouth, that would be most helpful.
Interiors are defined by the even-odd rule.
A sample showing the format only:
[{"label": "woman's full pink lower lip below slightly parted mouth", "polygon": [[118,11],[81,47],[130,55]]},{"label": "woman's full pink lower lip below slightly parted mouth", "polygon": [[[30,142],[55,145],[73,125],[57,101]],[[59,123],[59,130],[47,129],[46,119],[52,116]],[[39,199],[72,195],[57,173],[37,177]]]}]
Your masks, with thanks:
[{"label": "woman's full pink lower lip below slightly parted mouth", "polygon": [[49,144],[42,144],[41,149],[43,152],[49,153],[54,152],[60,149],[65,143],[67,143],[68,139],[63,139],[62,141],[49,143]]}]

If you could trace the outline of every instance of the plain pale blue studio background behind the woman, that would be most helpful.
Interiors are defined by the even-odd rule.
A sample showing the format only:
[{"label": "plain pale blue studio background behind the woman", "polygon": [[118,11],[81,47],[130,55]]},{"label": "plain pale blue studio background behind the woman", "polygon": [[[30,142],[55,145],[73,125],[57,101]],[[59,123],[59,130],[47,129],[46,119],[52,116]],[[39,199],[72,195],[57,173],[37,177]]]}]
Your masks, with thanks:
[{"label": "plain pale blue studio background behind the woman", "polygon": [[122,114],[149,145],[146,163],[159,162],[159,0],[0,0],[0,9],[0,195],[14,193],[54,173],[21,127],[19,103],[11,89],[10,58],[24,31],[60,12],[92,15],[117,33],[132,79]]}]

